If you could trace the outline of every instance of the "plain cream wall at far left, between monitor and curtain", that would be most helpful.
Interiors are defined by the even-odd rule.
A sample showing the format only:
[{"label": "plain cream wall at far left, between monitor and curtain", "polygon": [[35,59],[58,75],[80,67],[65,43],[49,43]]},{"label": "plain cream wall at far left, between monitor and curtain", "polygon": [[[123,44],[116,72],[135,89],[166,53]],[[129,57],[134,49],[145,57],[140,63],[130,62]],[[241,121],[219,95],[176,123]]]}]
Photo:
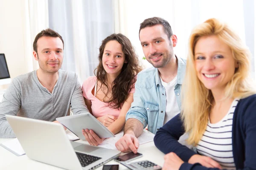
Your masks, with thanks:
[{"label": "plain cream wall at far left, between monitor and curtain", "polygon": [[[0,53],[6,56],[11,78],[27,73],[23,0],[0,0]],[[31,55],[32,56],[32,55]]]}]

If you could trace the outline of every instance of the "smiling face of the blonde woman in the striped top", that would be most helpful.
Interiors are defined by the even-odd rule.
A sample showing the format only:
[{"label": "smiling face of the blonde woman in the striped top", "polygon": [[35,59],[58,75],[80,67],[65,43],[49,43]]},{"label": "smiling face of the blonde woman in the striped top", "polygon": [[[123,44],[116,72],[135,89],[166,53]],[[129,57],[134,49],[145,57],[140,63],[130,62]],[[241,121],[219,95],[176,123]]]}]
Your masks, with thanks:
[{"label": "smiling face of the blonde woman in the striped top", "polygon": [[224,90],[238,67],[231,48],[212,35],[199,38],[194,53],[198,79],[209,90]]}]

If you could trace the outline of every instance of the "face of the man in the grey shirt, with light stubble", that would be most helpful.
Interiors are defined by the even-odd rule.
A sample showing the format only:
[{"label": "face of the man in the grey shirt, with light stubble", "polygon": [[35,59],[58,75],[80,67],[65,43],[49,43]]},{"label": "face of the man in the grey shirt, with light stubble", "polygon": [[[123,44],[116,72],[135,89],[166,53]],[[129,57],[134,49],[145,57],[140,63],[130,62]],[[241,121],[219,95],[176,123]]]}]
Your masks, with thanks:
[{"label": "face of the man in the grey shirt, with light stubble", "polygon": [[37,42],[37,53],[34,58],[38,61],[39,69],[45,73],[56,73],[63,62],[63,43],[59,37],[41,37]]}]

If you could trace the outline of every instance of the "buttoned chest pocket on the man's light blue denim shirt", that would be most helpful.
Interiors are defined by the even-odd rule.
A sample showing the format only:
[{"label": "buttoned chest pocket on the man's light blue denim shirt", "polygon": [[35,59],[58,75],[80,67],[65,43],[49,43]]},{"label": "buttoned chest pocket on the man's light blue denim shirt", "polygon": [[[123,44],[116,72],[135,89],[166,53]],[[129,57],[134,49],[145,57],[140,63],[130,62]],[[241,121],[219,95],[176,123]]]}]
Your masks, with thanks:
[{"label": "buttoned chest pocket on the man's light blue denim shirt", "polygon": [[153,127],[154,123],[157,123],[156,116],[159,113],[159,105],[151,102],[145,102],[145,109],[148,115],[148,127]]}]

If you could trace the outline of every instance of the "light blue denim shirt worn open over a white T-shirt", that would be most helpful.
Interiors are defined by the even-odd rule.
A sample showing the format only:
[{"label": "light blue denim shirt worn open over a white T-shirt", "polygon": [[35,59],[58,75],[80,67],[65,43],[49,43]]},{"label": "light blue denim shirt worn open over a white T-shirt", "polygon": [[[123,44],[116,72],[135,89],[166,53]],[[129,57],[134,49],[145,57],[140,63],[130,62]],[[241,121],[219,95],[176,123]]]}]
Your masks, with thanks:
[{"label": "light blue denim shirt worn open over a white T-shirt", "polygon": [[[177,84],[175,95],[181,109],[180,90],[186,72],[186,60],[177,57]],[[163,126],[166,113],[166,90],[163,87],[157,68],[148,68],[138,74],[135,83],[134,101],[126,114],[126,121],[130,118],[138,119],[145,128],[156,133]]]}]

